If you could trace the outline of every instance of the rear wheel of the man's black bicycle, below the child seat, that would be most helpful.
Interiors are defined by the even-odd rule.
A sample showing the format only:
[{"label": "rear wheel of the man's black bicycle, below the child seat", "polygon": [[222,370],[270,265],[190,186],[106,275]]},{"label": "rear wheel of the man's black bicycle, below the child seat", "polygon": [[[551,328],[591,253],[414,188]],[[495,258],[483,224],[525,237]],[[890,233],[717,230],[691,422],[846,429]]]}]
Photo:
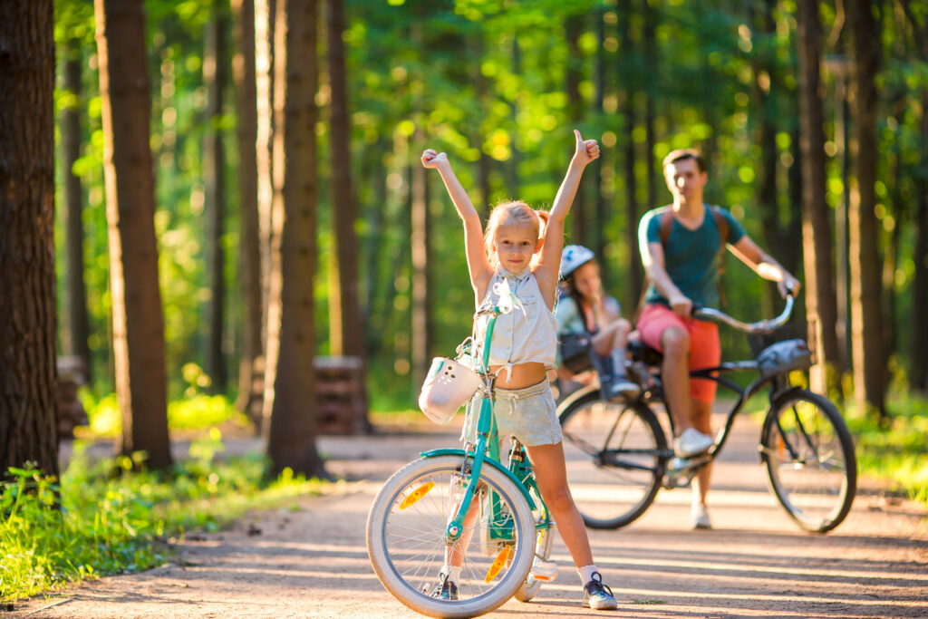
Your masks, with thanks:
[{"label": "rear wheel of the man's black bicycle, below the child seat", "polygon": [[565,400],[561,411],[567,482],[586,526],[634,522],[661,489],[670,456],[651,408],[603,402],[596,390]]}]

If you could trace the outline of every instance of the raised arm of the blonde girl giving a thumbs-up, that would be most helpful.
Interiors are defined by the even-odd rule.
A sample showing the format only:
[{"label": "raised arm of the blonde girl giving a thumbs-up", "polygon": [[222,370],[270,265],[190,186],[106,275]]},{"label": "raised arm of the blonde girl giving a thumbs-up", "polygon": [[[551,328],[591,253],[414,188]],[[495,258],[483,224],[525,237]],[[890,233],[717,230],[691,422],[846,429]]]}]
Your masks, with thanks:
[{"label": "raised arm of the blonde girl giving a thumbs-up", "polygon": [[535,279],[542,295],[548,302],[548,307],[554,304],[555,289],[558,284],[558,270],[561,268],[561,251],[564,249],[564,220],[570,213],[571,205],[577,188],[580,187],[580,178],[586,164],[599,157],[599,145],[596,140],[584,140],[580,132],[574,129],[576,139],[574,157],[567,167],[567,175],[554,198],[545,228],[545,243],[541,248],[541,259],[535,267]]}]

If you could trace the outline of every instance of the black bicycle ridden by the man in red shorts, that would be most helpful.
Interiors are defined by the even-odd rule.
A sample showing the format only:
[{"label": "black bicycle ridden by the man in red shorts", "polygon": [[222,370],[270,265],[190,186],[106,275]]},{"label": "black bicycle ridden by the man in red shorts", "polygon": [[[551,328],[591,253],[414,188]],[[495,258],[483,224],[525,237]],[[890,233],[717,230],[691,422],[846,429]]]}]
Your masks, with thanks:
[{"label": "black bicycle ridden by the man in red shorts", "polygon": [[[826,533],[844,521],[857,492],[851,434],[828,398],[790,383],[791,372],[811,366],[806,342],[795,339],[763,345],[792,312],[792,296],[787,297],[780,316],[754,323],[743,323],[713,308],[694,310],[693,316],[749,334],[755,351],[751,360],[690,372],[690,377],[715,380],[738,396],[724,428],[716,434],[715,445],[700,456],[674,457],[668,435],[651,409],[655,404],[667,408],[661,380],[663,356],[640,342],[629,345],[628,374],[642,389],[636,399],[605,401],[594,384],[561,403],[558,414],[568,484],[587,526],[625,526],[651,506],[662,486],[689,485],[696,472],[721,453],[748,398],[764,388],[768,406],[758,452],[780,505],[806,531]],[[725,376],[734,371],[753,371],[759,376],[742,389]],[[667,417],[673,436],[673,416]]]}]

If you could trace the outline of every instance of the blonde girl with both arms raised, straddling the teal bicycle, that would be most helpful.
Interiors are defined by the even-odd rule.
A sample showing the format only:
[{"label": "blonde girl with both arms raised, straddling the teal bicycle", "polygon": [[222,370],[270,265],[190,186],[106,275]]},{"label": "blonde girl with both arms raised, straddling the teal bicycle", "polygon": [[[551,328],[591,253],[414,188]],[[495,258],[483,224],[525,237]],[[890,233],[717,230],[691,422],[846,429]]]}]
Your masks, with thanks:
[{"label": "blonde girl with both arms raised, straddling the teal bicycle", "polygon": [[[544,215],[524,202],[504,202],[490,213],[484,235],[480,216],[445,153],[425,150],[422,165],[442,175],[463,220],[464,250],[477,307],[498,303],[500,291],[506,288],[522,304],[521,309],[500,316],[491,344],[490,369],[496,371],[497,384],[496,425],[500,436],[515,436],[525,445],[541,496],[576,563],[584,603],[592,609],[612,610],[616,608],[615,598],[602,584],[583,519],[567,487],[561,426],[548,384],[548,368],[554,366],[557,346],[552,310],[564,245],[564,220],[586,164],[599,157],[596,140],[584,140],[576,130],[574,136],[574,157],[547,213],[547,225],[542,221]],[[462,561],[461,553],[452,554],[434,595],[457,597],[456,581]]]}]

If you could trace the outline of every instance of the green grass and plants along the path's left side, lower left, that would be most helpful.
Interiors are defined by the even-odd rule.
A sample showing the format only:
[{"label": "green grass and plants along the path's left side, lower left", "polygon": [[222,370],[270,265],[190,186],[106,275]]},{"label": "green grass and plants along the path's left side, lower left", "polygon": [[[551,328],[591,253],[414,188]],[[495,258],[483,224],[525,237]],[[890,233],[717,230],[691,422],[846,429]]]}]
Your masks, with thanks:
[{"label": "green grass and plants along the path's left side, lower left", "polygon": [[174,471],[154,473],[136,472],[142,454],[91,463],[77,448],[60,484],[11,468],[12,481],[0,485],[0,600],[148,569],[170,558],[176,536],[324,487],[292,471],[267,483],[263,458],[214,459],[221,449],[214,430]]}]

